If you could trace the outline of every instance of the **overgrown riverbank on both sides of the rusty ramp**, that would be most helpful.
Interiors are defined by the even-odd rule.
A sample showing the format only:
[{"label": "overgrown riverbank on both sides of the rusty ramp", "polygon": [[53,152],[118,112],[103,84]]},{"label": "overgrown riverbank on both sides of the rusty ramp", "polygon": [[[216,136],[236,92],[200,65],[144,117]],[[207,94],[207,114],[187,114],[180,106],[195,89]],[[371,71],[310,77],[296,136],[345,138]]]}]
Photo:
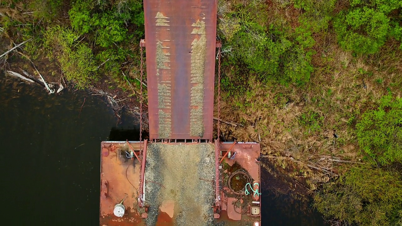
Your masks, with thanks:
[{"label": "overgrown riverbank on both sides of the rusty ramp", "polygon": [[[220,139],[259,142],[268,180],[283,182],[273,189],[314,194],[318,207],[335,200],[334,209],[319,208],[328,218],[375,225],[375,218],[364,216],[378,211],[387,225],[402,218],[400,168],[391,167],[402,161],[397,16],[402,6],[368,2],[219,1],[220,119],[226,122],[220,123]],[[0,12],[7,40],[2,49],[32,39],[17,49],[23,54],[8,54],[3,66],[19,70],[7,62],[26,55],[49,81],[63,76],[74,84],[71,90],[96,88],[137,111],[138,41],[144,35],[140,1],[10,1]],[[357,16],[360,27],[353,27],[351,18],[362,12],[382,19]],[[35,74],[30,67],[25,69]],[[388,181],[394,174],[396,179]],[[357,190],[370,185],[370,180],[356,180],[357,175],[396,187],[381,191],[395,202],[368,198],[377,190]],[[340,189],[354,191],[357,201],[334,199]],[[337,215],[351,209],[353,214]]]}]

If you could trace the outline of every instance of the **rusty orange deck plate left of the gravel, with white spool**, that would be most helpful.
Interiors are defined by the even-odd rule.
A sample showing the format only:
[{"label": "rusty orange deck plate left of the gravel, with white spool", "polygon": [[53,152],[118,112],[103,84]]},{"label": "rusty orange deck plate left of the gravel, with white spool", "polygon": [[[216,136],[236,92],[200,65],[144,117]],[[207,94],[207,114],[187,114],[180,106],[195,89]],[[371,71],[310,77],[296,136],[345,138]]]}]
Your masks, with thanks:
[{"label": "rusty orange deck plate left of the gravel, with white spool", "polygon": [[[139,150],[139,143],[131,146]],[[124,156],[125,150],[129,150],[126,142],[102,142],[101,149],[100,226],[145,225],[137,213],[136,205],[141,164]],[[125,215],[118,218],[113,214],[113,209],[124,198]]]}]

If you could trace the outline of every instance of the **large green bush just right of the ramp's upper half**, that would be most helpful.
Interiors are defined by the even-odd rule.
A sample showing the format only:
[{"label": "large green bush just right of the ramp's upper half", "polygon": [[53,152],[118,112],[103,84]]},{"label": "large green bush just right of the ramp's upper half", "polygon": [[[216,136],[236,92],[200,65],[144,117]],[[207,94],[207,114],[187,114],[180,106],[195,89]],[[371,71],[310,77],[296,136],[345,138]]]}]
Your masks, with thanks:
[{"label": "large green bush just right of the ramp's upper half", "polygon": [[[283,84],[302,84],[310,79],[313,71],[311,49],[314,45],[308,26],[300,26],[295,32],[287,33],[271,24],[266,26],[266,12],[255,8],[240,8],[232,14],[240,28],[226,41],[233,48],[233,62],[244,62],[258,74],[261,80],[276,80]],[[307,24],[304,24],[307,25]]]}]

